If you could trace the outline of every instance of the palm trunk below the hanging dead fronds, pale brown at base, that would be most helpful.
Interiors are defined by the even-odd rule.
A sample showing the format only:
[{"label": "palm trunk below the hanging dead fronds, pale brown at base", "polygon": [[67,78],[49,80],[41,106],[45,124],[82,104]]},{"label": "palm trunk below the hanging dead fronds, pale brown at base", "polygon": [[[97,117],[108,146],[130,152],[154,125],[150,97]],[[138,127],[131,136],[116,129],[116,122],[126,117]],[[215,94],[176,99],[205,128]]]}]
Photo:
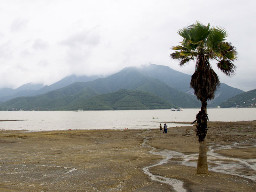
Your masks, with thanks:
[{"label": "palm trunk below the hanging dead fronds, pale brown at base", "polygon": [[207,102],[202,101],[201,111],[196,115],[197,125],[196,125],[196,135],[199,140],[199,154],[197,161],[197,174],[208,173],[208,164],[207,164],[207,141],[206,141],[206,133],[207,133],[207,111],[206,111]]}]

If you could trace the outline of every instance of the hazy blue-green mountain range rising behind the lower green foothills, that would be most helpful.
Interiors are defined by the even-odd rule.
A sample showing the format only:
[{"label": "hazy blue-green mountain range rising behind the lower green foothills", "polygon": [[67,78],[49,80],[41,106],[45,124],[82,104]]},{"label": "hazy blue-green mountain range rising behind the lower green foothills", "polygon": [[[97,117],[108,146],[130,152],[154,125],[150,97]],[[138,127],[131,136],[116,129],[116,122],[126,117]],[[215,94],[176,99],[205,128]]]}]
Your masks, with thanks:
[{"label": "hazy blue-green mountain range rising behind the lower green foothills", "polygon": [[[81,92],[82,89],[86,89],[88,87],[90,87],[95,94],[104,94],[126,89],[149,92],[160,97],[161,99],[166,100],[169,103],[172,103],[175,106],[183,108],[197,108],[201,105],[200,101],[198,101],[196,97],[191,94],[191,88],[189,87],[191,76],[175,71],[167,66],[150,64],[142,65],[140,67],[126,67],[118,73],[105,78],[97,78],[97,76],[92,78],[80,77],[80,80],[83,78],[86,82],[75,82],[70,84],[72,81],[75,81],[78,78],[76,76],[67,76],[61,80],[62,83],[56,82],[54,85],[52,84],[50,86],[44,86],[43,88],[36,91],[27,89],[16,92],[15,94],[18,95],[18,93],[22,93],[23,96],[29,96],[29,94],[32,96],[43,95],[37,97],[40,98],[40,102],[42,102],[42,97],[44,97],[45,102],[53,102],[52,99],[54,99],[55,102],[59,102],[58,98],[59,100],[63,100],[65,98],[64,100],[70,101],[70,98],[73,98],[75,94],[82,95],[82,93],[79,92]],[[89,81],[93,78],[95,79]],[[66,84],[68,85],[65,87],[51,90],[54,86],[61,87]],[[78,88],[79,86],[80,89]],[[12,90],[8,91],[12,92]],[[208,101],[208,106],[217,106],[220,102],[230,98],[230,95],[234,96],[241,92],[243,91],[230,87],[226,84],[221,84],[220,89],[216,92],[216,97],[214,100]],[[15,94],[13,94],[13,96],[15,96]],[[86,91],[83,91],[83,94],[93,97],[93,95],[87,94]],[[70,98],[67,99],[67,97]],[[2,98],[6,99],[6,96],[3,96]],[[80,102],[82,101],[80,100]],[[68,105],[68,103],[66,103],[66,105]]]}]

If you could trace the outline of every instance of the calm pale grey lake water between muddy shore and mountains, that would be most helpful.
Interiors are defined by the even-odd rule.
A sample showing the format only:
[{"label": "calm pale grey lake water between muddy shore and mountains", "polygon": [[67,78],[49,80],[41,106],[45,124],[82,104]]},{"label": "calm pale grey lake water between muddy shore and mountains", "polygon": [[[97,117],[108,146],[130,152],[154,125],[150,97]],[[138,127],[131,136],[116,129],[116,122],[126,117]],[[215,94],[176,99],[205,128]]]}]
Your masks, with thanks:
[{"label": "calm pale grey lake water between muddy shore and mountains", "polygon": [[[183,111],[129,110],[129,111],[0,111],[0,122],[5,130],[67,130],[67,129],[153,129],[169,121],[193,122],[200,109]],[[256,120],[256,108],[207,109],[209,121]],[[185,124],[168,123],[168,127]]]}]

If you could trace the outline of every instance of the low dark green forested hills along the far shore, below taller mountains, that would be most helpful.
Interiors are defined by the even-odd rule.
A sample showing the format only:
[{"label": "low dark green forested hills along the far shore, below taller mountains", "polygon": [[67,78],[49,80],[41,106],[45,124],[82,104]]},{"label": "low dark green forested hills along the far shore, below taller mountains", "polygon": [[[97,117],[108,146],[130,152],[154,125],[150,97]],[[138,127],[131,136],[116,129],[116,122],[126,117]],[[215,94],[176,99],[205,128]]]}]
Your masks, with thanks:
[{"label": "low dark green forested hills along the far shore, below taller mountains", "polygon": [[[160,97],[141,91],[120,90],[112,93],[96,95],[92,88],[85,88],[75,95],[59,98],[49,98],[45,95],[22,97],[5,102],[2,110],[42,109],[42,110],[131,110],[131,109],[167,109],[175,107]],[[7,101],[8,102],[8,101]],[[6,107],[6,108],[5,108]],[[8,108],[7,108],[8,107]]]}]

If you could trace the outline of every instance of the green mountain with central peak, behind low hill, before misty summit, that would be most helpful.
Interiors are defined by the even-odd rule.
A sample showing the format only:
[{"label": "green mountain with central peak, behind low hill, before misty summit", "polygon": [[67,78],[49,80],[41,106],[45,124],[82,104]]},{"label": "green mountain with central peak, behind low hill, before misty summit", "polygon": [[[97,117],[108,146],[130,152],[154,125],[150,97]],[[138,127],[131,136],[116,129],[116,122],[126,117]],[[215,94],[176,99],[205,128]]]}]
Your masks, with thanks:
[{"label": "green mountain with central peak, behind low hill, before misty summit", "polygon": [[[93,97],[96,94],[112,93],[122,89],[148,92],[165,100],[169,103],[169,106],[171,106],[170,103],[172,103],[172,106],[179,105],[179,107],[183,108],[200,106],[200,102],[194,96],[172,88],[157,79],[146,77],[140,74],[136,68],[125,68],[106,78],[99,78],[90,82],[76,82],[35,97],[15,98],[4,102],[0,107],[2,110],[6,108],[71,109],[70,106],[74,105],[77,108],[81,108],[82,101],[88,97]],[[89,93],[88,90],[90,91]]]}]

